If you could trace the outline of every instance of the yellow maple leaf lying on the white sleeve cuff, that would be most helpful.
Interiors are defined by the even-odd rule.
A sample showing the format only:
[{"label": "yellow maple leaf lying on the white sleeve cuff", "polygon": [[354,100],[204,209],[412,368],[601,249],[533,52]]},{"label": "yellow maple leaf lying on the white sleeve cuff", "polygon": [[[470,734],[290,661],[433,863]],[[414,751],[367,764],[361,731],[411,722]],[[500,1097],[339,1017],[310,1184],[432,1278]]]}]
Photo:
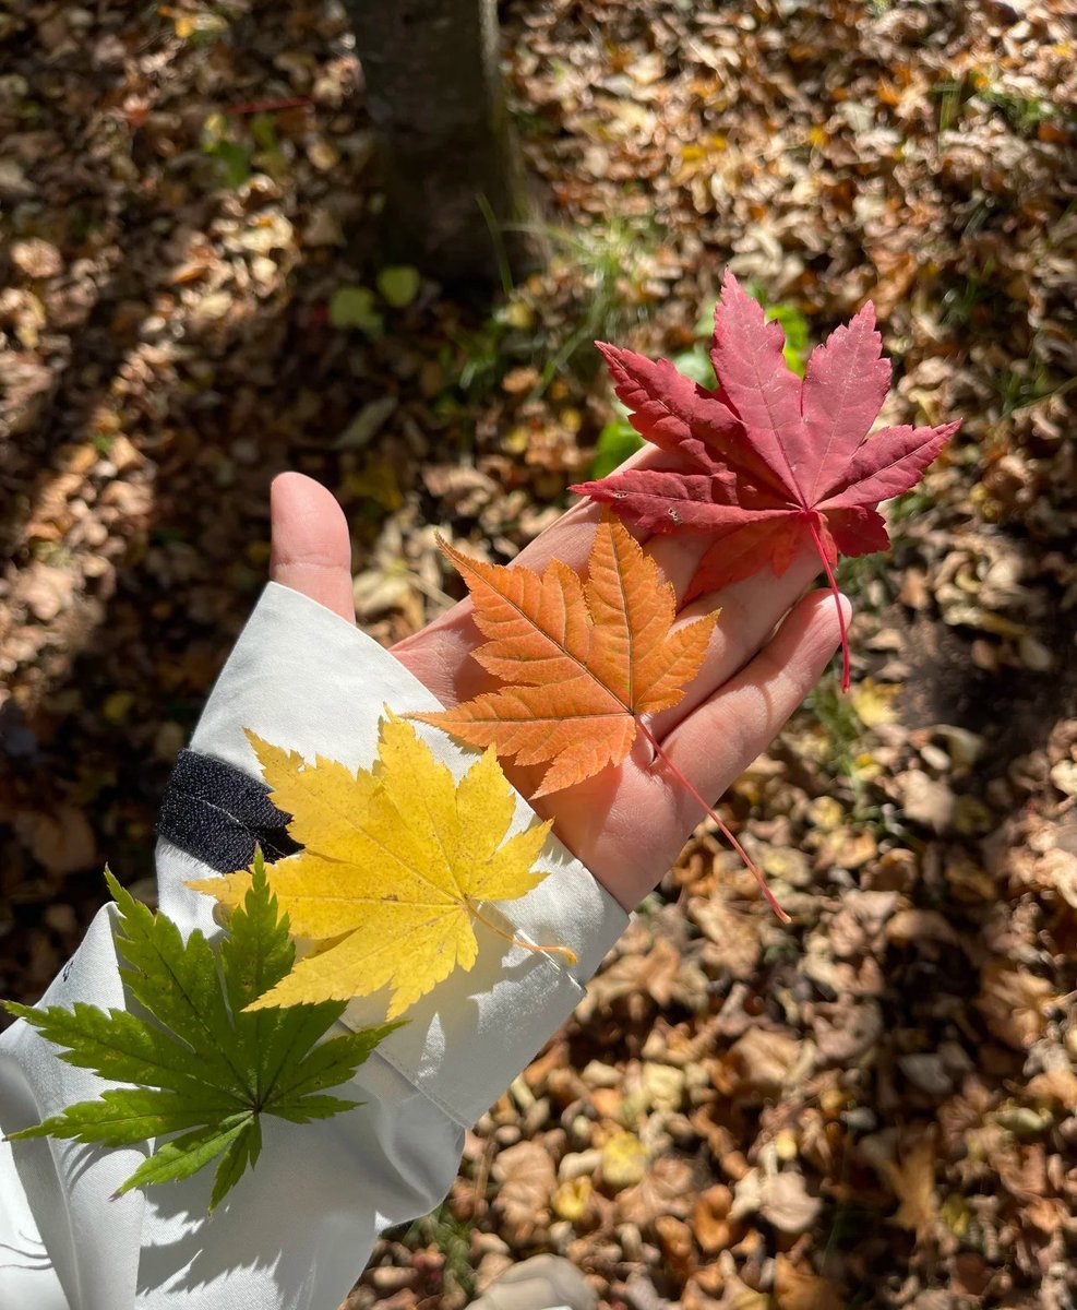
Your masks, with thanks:
[{"label": "yellow maple leaf lying on the white sleeve cuff", "polygon": [[[514,900],[545,878],[532,865],[550,824],[506,840],[516,796],[493,748],[457,783],[392,714],[381,720],[373,769],[355,773],[248,736],[274,803],[293,816],[290,832],[305,848],[267,866],[270,889],[292,935],[317,943],[249,1010],[389,986],[388,1017],[397,1018],[453,968],[474,964],[473,920],[507,935],[483,916],[483,901]],[[232,908],[249,884],[244,870],[187,886]],[[565,947],[542,948],[574,959]]]}]

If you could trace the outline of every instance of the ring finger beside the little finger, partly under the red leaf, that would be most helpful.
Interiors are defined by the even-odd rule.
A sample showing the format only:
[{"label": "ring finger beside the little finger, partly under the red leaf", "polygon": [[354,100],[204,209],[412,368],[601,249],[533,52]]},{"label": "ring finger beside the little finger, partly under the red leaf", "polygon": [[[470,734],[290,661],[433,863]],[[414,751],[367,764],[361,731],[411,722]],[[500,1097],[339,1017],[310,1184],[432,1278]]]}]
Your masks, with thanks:
[{"label": "ring finger beside the little finger, partly under the red leaf", "polygon": [[[781,578],[766,566],[743,582],[700,596],[681,610],[679,620],[683,621],[713,613],[715,609],[721,609],[722,613],[700,672],[687,688],[684,698],[655,715],[652,728],[659,740],[683,723],[763,647],[774,626],[816,572],[819,572],[818,558],[811,550],[803,550]],[[833,599],[831,604],[833,605]]]}]

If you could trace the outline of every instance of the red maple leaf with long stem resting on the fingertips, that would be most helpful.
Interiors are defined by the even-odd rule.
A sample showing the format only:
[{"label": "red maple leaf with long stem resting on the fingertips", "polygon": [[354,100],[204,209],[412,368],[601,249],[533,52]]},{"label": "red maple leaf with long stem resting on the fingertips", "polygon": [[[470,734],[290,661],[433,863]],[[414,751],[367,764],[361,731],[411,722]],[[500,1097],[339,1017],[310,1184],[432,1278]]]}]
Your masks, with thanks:
[{"label": "red maple leaf with long stem resting on the fingertips", "polygon": [[[714,314],[709,390],[630,350],[599,343],[641,436],[676,468],[628,469],[573,487],[649,532],[704,532],[685,601],[770,563],[781,575],[814,542],[837,601],[839,554],[890,546],[880,500],[908,491],[960,423],[886,427],[869,438],[890,389],[869,301],[808,359],[803,379],[782,355],[785,333],[727,274]],[[688,465],[685,469],[684,465]],[[849,642],[839,605],[849,688]]]}]

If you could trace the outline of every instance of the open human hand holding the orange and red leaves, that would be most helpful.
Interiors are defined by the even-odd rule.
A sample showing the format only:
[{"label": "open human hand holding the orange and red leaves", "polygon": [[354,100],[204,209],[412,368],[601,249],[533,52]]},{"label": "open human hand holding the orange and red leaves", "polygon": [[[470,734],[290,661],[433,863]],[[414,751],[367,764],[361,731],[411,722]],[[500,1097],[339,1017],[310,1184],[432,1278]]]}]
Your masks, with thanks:
[{"label": "open human hand holding the orange and red leaves", "polygon": [[[650,457],[651,452],[643,452],[635,458],[647,462]],[[273,483],[270,512],[274,582],[355,622],[351,544],[333,494],[299,473],[283,473]],[[582,569],[600,516],[596,504],[574,506],[520,552],[519,562],[538,571],[550,559]],[[634,534],[677,596],[684,595],[706,538]],[[768,747],[837,648],[831,593],[815,591],[801,597],[818,569],[815,555],[804,552],[781,578],[764,569],[700,597],[677,616],[689,620],[722,609],[704,665],[684,698],[651,720],[663,749],[705,796],[719,796]],[[421,633],[398,642],[393,654],[452,707],[498,685],[470,658],[481,642],[472,603],[461,600]],[[524,795],[541,772],[506,765],[506,774]],[[542,817],[553,819],[561,841],[628,910],[660,882],[702,816],[698,803],[655,760],[642,735],[618,768],[532,804]]]}]

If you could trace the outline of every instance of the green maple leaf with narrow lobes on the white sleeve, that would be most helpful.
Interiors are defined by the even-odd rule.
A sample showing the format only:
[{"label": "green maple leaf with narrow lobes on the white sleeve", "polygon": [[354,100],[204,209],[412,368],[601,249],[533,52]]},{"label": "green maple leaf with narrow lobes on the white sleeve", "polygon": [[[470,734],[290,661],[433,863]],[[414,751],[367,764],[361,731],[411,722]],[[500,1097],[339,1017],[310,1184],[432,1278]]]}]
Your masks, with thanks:
[{"label": "green maple leaf with narrow lobes on the white sleeve", "polygon": [[[10,1133],[73,1137],[106,1146],[155,1138],[157,1148],[117,1189],[190,1178],[220,1162],[210,1213],[253,1167],[262,1148],[261,1116],[296,1124],[329,1119],[362,1102],[326,1095],[346,1082],[398,1023],[363,1028],[318,1043],[345,1003],[326,1001],[284,1009],[244,1009],[291,971],[295,947],[288,918],[270,895],[262,853],[253,880],[229,924],[220,955],[200,931],[186,942],[165,914],[153,914],[105,870],[119,907],[121,975],[148,1018],[126,1010],[73,1009],[4,1002],[66,1049],[60,1058],[102,1078],[134,1086],[81,1100],[60,1115]],[[178,1133],[180,1136],[172,1136]],[[161,1137],[170,1137],[160,1144]]]}]

